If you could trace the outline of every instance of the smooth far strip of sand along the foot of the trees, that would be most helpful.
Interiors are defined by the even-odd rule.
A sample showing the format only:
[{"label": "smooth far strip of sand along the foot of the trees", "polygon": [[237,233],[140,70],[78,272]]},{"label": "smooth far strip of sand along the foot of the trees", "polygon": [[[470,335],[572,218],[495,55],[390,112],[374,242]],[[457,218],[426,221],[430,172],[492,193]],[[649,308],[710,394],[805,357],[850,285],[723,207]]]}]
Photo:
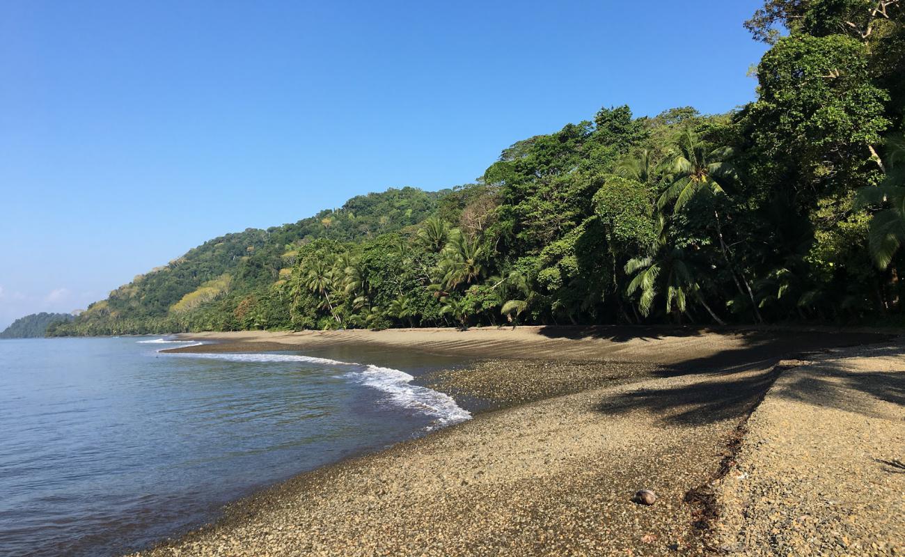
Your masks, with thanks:
[{"label": "smooth far strip of sand along the foot of the trees", "polygon": [[832,328],[710,330],[694,327],[484,327],[386,331],[209,332],[186,339],[217,341],[181,351],[414,351],[455,357],[531,360],[622,360],[694,370],[783,357],[790,352],[852,346],[882,337]]}]

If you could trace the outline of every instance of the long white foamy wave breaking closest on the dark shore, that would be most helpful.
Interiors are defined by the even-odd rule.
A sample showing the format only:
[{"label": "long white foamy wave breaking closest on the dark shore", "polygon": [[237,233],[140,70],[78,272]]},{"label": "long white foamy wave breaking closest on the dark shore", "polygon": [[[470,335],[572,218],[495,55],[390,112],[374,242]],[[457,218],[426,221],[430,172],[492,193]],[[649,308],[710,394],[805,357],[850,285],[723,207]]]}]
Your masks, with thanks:
[{"label": "long white foamy wave breaking closest on the dark shore", "polygon": [[[150,342],[150,341],[147,341]],[[414,376],[405,371],[392,368],[381,368],[351,361],[329,360],[313,356],[297,354],[219,354],[219,353],[167,353],[167,356],[183,356],[188,358],[205,358],[208,360],[271,362],[271,361],[303,361],[329,366],[355,366],[363,370],[351,371],[343,377],[356,381],[367,387],[382,390],[395,405],[422,412],[434,418],[435,427],[452,426],[472,418],[472,413],[456,404],[446,393],[412,385]]]}]

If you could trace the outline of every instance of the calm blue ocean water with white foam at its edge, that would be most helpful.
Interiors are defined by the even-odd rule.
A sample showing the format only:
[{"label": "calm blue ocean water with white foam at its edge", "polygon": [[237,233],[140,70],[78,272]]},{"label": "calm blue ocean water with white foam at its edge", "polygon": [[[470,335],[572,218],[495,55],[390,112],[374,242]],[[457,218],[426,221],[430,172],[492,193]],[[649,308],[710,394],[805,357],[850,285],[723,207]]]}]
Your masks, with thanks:
[{"label": "calm blue ocean water with white foam at its edge", "polygon": [[0,555],[147,547],[264,485],[470,418],[397,369],[448,362],[158,352],[185,344],[0,341]]}]

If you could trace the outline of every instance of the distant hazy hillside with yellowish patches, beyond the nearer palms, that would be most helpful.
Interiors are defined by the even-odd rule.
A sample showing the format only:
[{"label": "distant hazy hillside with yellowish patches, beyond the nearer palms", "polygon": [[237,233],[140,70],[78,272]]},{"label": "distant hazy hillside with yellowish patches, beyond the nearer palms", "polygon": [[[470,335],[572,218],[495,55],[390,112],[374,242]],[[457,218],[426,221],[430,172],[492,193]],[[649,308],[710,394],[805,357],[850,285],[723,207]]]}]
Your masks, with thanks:
[{"label": "distant hazy hillside with yellowish patches, beyond the nearer palms", "polygon": [[125,334],[206,326],[207,317],[218,312],[212,303],[236,303],[258,291],[266,297],[268,287],[280,281],[281,270],[288,273],[301,246],[317,238],[357,242],[413,226],[433,214],[442,196],[413,187],[389,189],[353,197],[339,209],[320,211],[295,224],[214,238],[139,274],[106,300],[92,303],[76,323],[54,331]]}]

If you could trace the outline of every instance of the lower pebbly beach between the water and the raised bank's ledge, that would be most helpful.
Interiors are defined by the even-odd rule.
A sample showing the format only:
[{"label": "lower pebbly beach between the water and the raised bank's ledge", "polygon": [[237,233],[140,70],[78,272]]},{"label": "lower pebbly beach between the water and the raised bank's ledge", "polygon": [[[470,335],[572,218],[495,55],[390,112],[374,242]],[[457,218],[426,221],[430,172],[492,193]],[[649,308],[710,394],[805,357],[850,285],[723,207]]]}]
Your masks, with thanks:
[{"label": "lower pebbly beach between the water and the raised bank's ledge", "polygon": [[[852,331],[625,329],[180,335],[219,343],[169,351],[467,356],[465,367],[416,380],[457,402],[464,394],[491,405],[466,422],[265,488],[141,554],[697,552],[705,542],[692,524],[704,509],[685,497],[718,474],[777,365],[890,341]],[[632,504],[643,487],[661,501]],[[367,525],[367,517],[394,527]],[[491,525],[505,535],[484,539]],[[443,535],[427,539],[425,527]]]}]

